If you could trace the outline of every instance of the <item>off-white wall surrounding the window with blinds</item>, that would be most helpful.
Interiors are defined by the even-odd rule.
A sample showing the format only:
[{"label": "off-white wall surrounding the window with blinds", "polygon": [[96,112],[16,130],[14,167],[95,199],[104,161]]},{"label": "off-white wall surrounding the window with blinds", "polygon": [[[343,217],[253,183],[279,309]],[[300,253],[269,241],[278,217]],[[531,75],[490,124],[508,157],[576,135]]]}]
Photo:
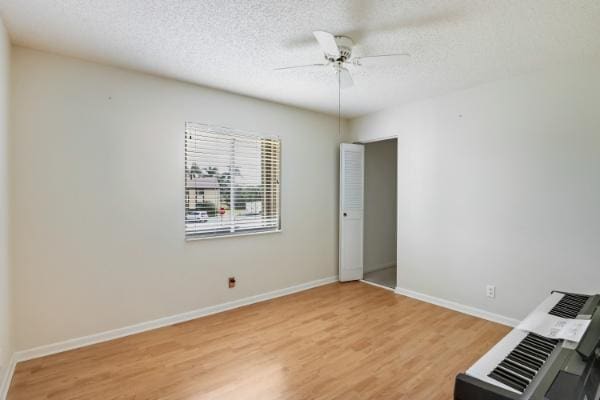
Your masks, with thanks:
[{"label": "off-white wall surrounding the window with blinds", "polygon": [[[337,274],[336,118],[13,53],[19,350]],[[280,135],[283,233],[184,240],[186,121]]]}]

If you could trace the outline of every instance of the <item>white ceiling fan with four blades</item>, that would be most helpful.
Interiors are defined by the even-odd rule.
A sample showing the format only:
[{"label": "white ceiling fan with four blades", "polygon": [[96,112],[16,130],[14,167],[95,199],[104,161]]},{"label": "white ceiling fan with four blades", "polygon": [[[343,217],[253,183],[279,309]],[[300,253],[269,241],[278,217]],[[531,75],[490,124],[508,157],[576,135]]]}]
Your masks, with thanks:
[{"label": "white ceiling fan with four blades", "polygon": [[275,68],[276,71],[302,69],[302,68],[332,68],[338,74],[338,83],[341,88],[349,88],[354,85],[348,66],[361,67],[371,65],[397,65],[403,63],[409,54],[379,54],[372,56],[352,57],[354,41],[347,36],[335,36],[325,31],[315,31],[313,35],[317,39],[325,56],[325,62],[321,64],[296,65],[291,67]]}]

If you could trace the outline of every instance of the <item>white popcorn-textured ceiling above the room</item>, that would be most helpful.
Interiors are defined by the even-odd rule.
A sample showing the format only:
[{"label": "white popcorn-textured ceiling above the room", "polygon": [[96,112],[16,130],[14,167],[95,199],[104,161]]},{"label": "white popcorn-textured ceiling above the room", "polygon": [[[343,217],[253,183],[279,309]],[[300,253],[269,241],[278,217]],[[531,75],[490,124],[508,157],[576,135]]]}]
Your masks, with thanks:
[{"label": "white popcorn-textured ceiling above the room", "polygon": [[311,32],[408,65],[353,71],[345,116],[600,55],[599,0],[0,0],[14,43],[304,108],[337,112]]}]

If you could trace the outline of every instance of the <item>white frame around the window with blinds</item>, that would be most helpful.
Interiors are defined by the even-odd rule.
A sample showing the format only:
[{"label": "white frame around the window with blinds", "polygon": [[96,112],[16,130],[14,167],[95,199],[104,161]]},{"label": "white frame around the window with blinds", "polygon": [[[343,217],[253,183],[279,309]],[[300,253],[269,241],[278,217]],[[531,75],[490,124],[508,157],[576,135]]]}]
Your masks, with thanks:
[{"label": "white frame around the window with blinds", "polygon": [[[187,161],[187,137],[188,137],[188,127],[192,127],[192,129],[194,130],[205,130],[205,132],[208,133],[217,133],[217,134],[224,134],[224,135],[230,135],[232,137],[235,136],[242,136],[242,137],[247,137],[247,138],[252,138],[252,139],[256,139],[257,141],[260,139],[267,139],[267,140],[275,140],[278,143],[278,154],[277,154],[277,165],[278,165],[278,171],[276,176],[277,179],[277,189],[278,189],[278,193],[277,193],[277,226],[275,227],[268,227],[268,228],[256,228],[256,229],[242,229],[242,230],[234,230],[233,232],[226,232],[226,231],[218,231],[218,232],[195,232],[195,233],[188,233],[185,225],[186,225],[186,215],[187,215],[187,211],[188,211],[188,201],[187,201],[187,196],[188,196],[188,188],[187,188],[187,173],[188,173],[188,161]],[[235,153],[234,153],[235,154]],[[244,130],[239,130],[239,129],[233,129],[233,128],[228,128],[228,127],[223,127],[223,126],[217,126],[217,125],[209,125],[209,124],[202,124],[202,123],[197,123],[197,122],[186,122],[185,126],[184,126],[184,168],[183,168],[183,172],[184,172],[184,185],[183,185],[183,191],[184,191],[184,216],[183,216],[183,221],[184,221],[184,237],[186,241],[195,241],[195,240],[207,240],[207,239],[222,239],[222,238],[228,238],[228,237],[239,237],[239,236],[255,236],[255,235],[265,235],[265,234],[271,234],[271,233],[280,233],[283,231],[282,226],[283,226],[283,222],[282,222],[282,215],[281,215],[281,210],[282,210],[282,154],[283,154],[283,150],[282,150],[282,140],[279,136],[277,135],[266,135],[266,134],[261,134],[261,133],[256,133],[256,132],[250,132],[250,131],[244,131]],[[262,162],[262,157],[258,159],[259,162]]]}]

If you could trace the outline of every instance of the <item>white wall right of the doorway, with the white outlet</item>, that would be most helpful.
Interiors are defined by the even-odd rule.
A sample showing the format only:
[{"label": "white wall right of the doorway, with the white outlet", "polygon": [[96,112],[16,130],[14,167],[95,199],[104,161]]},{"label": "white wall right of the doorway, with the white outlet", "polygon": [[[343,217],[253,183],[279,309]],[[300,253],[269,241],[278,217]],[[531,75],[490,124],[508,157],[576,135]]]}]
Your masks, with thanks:
[{"label": "white wall right of the doorway, with the white outlet", "polygon": [[[398,285],[520,318],[600,292],[600,62],[351,121],[398,136]],[[497,298],[485,297],[487,283]]]}]

